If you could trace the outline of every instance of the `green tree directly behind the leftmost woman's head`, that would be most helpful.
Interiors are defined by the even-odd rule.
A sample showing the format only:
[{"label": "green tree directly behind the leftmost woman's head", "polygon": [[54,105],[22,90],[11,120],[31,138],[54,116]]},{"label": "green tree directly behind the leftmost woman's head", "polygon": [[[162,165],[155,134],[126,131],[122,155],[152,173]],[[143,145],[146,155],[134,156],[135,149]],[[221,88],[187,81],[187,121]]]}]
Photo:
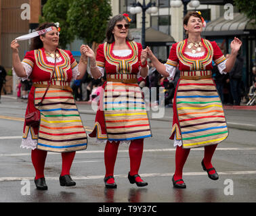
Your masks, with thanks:
[{"label": "green tree directly behind the leftmost woman's head", "polygon": [[60,23],[60,47],[66,49],[66,45],[74,40],[74,34],[70,31],[67,22],[67,13],[73,0],[47,0],[43,5],[43,17],[40,22]]}]

